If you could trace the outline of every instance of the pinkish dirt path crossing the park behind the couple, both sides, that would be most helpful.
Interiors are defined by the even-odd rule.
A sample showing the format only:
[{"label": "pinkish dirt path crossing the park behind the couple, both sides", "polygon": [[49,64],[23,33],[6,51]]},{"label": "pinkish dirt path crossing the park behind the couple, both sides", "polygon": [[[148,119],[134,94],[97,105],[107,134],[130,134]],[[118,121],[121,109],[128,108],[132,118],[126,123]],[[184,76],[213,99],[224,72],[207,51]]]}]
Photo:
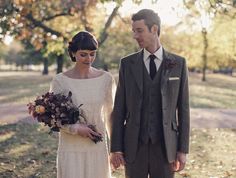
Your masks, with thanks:
[{"label": "pinkish dirt path crossing the park behind the couple, both sides", "polygon": [[[23,104],[0,104],[0,124],[35,123]],[[236,109],[191,109],[192,128],[236,128]]]}]

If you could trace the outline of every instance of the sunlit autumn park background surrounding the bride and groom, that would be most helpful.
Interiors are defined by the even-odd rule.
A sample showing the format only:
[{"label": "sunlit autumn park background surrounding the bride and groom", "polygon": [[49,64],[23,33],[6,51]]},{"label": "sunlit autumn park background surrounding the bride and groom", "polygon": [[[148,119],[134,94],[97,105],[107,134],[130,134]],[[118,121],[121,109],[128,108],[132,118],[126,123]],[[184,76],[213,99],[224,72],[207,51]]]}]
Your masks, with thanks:
[{"label": "sunlit autumn park background surrounding the bride and groom", "polygon": [[130,16],[141,8],[159,13],[163,47],[188,63],[190,154],[176,177],[236,177],[235,0],[0,0],[0,177],[56,177],[58,135],[26,104],[73,65],[80,30],[98,39],[94,66],[117,77],[120,58],[139,50]]}]

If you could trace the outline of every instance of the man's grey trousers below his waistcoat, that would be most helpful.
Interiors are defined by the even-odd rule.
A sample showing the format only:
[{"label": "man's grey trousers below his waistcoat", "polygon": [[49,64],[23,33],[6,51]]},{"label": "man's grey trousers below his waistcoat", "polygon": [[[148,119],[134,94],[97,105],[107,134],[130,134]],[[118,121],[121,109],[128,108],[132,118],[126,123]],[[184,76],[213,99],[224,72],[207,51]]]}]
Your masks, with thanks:
[{"label": "man's grey trousers below his waistcoat", "polygon": [[126,178],[173,178],[174,172],[167,161],[164,143],[140,144],[136,159],[125,165]]}]

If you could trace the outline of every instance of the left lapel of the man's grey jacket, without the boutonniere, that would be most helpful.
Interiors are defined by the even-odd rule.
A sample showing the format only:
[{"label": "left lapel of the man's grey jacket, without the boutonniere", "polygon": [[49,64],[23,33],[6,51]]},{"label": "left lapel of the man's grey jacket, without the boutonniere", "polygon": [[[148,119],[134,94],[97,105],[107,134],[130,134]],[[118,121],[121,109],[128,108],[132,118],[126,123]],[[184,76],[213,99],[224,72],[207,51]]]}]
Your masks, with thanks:
[{"label": "left lapel of the man's grey jacket, without the boutonniere", "polygon": [[135,81],[140,89],[140,92],[143,92],[143,50],[141,50],[137,55],[131,59],[131,70],[134,75]]}]

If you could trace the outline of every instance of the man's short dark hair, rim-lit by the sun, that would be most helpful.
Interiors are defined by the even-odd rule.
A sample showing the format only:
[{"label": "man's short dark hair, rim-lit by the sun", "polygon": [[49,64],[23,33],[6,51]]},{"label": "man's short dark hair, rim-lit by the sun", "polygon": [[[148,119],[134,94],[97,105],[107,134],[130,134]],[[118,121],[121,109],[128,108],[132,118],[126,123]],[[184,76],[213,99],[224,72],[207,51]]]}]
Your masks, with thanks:
[{"label": "man's short dark hair, rim-lit by the sun", "polygon": [[137,13],[132,15],[132,21],[144,20],[144,23],[147,25],[149,31],[152,26],[155,24],[158,26],[158,36],[160,36],[161,31],[161,19],[158,16],[158,13],[155,13],[151,9],[142,9]]}]

